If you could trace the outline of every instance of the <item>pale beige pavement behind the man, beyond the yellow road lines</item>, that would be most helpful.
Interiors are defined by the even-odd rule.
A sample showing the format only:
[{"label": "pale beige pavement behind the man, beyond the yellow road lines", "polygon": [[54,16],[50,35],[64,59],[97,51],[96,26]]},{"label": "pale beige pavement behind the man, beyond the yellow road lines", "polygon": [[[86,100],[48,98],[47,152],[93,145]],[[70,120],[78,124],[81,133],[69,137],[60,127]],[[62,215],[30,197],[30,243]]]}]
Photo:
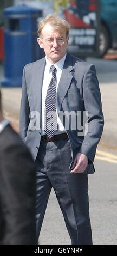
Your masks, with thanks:
[{"label": "pale beige pavement behind the man, beyond the yellow road lines", "polygon": [[[117,60],[87,58],[87,61],[95,64],[100,83],[102,109],[105,117],[105,127],[100,145],[117,150]],[[3,76],[3,65],[1,64],[0,80]],[[5,116],[18,131],[21,88],[1,89]]]}]

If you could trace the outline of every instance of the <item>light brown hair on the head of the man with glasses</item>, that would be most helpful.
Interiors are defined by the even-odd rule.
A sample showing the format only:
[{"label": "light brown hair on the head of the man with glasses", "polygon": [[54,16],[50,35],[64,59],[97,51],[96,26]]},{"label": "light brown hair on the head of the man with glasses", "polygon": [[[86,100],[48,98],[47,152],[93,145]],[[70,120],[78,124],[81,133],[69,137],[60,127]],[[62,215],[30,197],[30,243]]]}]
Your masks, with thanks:
[{"label": "light brown hair on the head of the man with glasses", "polygon": [[66,32],[66,37],[69,35],[69,23],[66,20],[62,19],[61,17],[57,16],[56,14],[48,14],[44,19],[42,19],[38,23],[37,33],[39,37],[41,36],[42,29],[47,23],[55,27],[56,31],[64,30]]}]

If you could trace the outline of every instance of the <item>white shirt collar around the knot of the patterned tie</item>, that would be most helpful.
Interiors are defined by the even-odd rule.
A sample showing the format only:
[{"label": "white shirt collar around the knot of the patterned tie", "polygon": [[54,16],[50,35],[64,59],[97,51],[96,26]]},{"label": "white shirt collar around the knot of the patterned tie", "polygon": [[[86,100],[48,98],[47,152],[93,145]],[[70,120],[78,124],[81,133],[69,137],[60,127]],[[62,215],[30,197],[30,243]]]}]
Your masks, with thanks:
[{"label": "white shirt collar around the knot of the patterned tie", "polygon": [[51,62],[49,62],[49,60],[46,57],[46,69],[48,69],[50,72],[51,65],[54,65],[55,68],[57,69],[57,71],[61,71],[61,69],[63,68],[63,65],[64,65],[64,61],[66,59],[66,55],[67,55],[67,53],[62,57],[62,59],[60,59],[55,64],[52,64]]}]

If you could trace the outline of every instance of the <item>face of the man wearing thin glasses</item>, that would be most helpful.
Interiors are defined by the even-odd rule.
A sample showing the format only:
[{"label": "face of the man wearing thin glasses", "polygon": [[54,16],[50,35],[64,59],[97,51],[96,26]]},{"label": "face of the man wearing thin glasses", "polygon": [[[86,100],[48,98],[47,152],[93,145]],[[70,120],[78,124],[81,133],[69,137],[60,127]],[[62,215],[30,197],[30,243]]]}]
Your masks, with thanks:
[{"label": "face of the man wearing thin glasses", "polygon": [[50,24],[46,24],[42,29],[41,38],[38,38],[38,44],[43,48],[47,59],[52,63],[58,62],[66,53],[69,36],[66,32],[56,31]]}]

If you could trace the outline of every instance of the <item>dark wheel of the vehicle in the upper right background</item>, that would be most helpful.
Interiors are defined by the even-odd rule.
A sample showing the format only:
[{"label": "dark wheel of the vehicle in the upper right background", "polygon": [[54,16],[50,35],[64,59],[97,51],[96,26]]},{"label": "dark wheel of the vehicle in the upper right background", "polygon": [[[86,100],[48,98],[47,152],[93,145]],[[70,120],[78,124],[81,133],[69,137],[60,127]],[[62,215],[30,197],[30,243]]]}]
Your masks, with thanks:
[{"label": "dark wheel of the vehicle in the upper right background", "polygon": [[103,57],[110,47],[110,38],[108,30],[105,26],[101,25],[99,34],[99,57]]}]

